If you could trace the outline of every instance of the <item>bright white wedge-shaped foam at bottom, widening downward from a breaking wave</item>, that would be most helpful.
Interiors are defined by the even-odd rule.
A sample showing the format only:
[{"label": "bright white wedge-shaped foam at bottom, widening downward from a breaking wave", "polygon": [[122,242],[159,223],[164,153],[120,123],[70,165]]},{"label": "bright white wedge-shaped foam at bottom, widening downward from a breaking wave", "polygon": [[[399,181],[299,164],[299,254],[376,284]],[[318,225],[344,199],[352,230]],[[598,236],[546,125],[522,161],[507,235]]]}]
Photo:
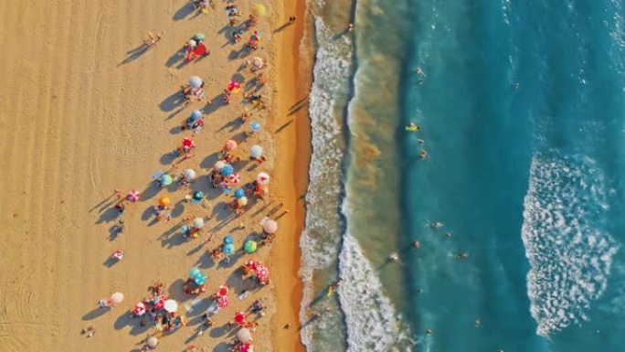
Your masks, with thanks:
[{"label": "bright white wedge-shaped foam at bottom, widening downward from a breaking wave", "polygon": [[398,351],[412,345],[376,270],[349,233],[344,235],[339,272],[344,280],[338,294],[347,325],[347,352]]}]

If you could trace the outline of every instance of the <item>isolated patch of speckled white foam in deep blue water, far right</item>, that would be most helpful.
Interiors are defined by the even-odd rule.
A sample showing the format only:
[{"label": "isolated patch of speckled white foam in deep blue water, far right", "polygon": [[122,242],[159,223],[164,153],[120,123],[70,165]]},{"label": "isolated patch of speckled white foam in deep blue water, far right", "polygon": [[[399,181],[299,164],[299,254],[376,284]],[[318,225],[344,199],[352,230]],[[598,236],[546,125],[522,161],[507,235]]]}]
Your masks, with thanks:
[{"label": "isolated patch of speckled white foam in deep blue water, far right", "polygon": [[588,320],[618,245],[605,230],[609,189],[585,157],[535,155],[524,199],[530,312],[541,336]]}]

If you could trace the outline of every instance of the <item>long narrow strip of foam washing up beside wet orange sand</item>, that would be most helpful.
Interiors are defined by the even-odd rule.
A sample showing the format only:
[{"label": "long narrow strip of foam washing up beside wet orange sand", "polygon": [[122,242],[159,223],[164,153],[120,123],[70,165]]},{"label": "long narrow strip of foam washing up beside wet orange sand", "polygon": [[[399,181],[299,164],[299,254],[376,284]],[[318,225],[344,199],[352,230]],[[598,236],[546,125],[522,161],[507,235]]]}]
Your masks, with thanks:
[{"label": "long narrow strip of foam washing up beside wet orange sand", "polygon": [[[304,283],[300,319],[308,319],[307,309],[314,296],[312,274],[333,265],[338,257],[342,224],[338,214],[341,192],[341,165],[344,141],[341,119],[335,116],[342,107],[341,97],[347,91],[351,72],[351,44],[347,38],[333,39],[334,33],[315,19],[315,35],[318,44],[313,69],[313,82],[309,102],[312,123],[312,158],[310,184],[306,194],[307,212],[305,229],[302,231],[302,268],[300,276]],[[322,319],[320,326],[327,323]],[[313,325],[302,328],[302,342],[312,347],[315,331]]]}]

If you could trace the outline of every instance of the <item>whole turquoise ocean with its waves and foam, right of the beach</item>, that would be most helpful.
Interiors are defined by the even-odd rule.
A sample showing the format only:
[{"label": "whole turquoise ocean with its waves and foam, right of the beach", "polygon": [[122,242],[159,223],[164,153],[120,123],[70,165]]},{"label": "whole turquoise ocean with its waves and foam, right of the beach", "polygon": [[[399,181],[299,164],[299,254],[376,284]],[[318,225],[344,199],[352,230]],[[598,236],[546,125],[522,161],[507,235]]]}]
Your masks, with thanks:
[{"label": "whole turquoise ocean with its waves and foam, right of the beach", "polygon": [[625,351],[622,1],[309,8],[308,351]]}]

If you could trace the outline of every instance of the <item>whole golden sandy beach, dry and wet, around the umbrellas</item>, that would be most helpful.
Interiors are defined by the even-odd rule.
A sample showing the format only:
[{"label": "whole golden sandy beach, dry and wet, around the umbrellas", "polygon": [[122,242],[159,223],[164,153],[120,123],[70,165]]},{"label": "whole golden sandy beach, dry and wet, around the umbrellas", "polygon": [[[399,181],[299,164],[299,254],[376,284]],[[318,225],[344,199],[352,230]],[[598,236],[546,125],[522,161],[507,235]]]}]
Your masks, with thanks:
[{"label": "whole golden sandy beach, dry and wet, around the umbrellas", "polygon": [[[242,14],[238,27],[252,4],[234,3]],[[255,299],[268,304],[253,333],[255,350],[302,350],[298,244],[310,155],[310,60],[299,50],[304,2],[253,4],[265,5],[267,15],[238,44],[220,0],[206,14],[184,0],[0,4],[0,351],[138,351],[154,328],[141,326],[128,311],[157,280],[167,284],[170,297],[192,308],[188,324],[162,337],[157,350],[195,345],[227,351],[236,334],[227,323]],[[260,48],[248,52],[243,48],[254,29],[262,34]],[[163,37],[146,47],[150,31]],[[185,63],[181,49],[198,32],[206,35],[210,55]],[[230,80],[254,89],[254,75],[242,64],[256,56],[268,64],[269,82],[260,91],[268,108],[243,102],[244,91],[222,103]],[[207,99],[185,104],[180,86],[195,75],[206,82]],[[193,137],[194,156],[174,159],[172,152],[191,136],[181,125],[196,109],[205,126]],[[241,123],[246,109],[252,116]],[[246,137],[251,121],[262,128]],[[260,171],[271,175],[271,197],[250,200],[237,218],[226,207],[231,193],[213,189],[207,178],[228,139],[239,144],[234,155],[241,162],[234,166],[243,183]],[[253,144],[264,148],[267,161],[261,165],[248,160]],[[196,171],[192,186],[155,186],[154,172],[175,163]],[[112,208],[115,189],[142,192],[122,218]],[[194,190],[205,192],[204,203],[183,201]],[[153,207],[163,196],[172,200],[169,222],[154,221]],[[268,214],[279,223],[273,243],[251,255],[238,252],[225,265],[211,260],[209,251],[227,234],[238,250],[244,240],[258,237]],[[178,227],[195,217],[207,223],[198,239],[185,240]],[[111,230],[119,219],[121,234]],[[122,261],[110,260],[116,250],[124,252]],[[257,290],[241,280],[238,266],[251,258],[269,265],[269,286]],[[207,275],[207,293],[196,304],[196,297],[182,292],[194,267]],[[210,294],[223,283],[232,304],[196,336]],[[249,296],[239,300],[244,291]],[[114,292],[124,293],[124,302],[110,311],[98,308],[98,300]],[[80,334],[88,326],[95,328],[92,337]]]}]

